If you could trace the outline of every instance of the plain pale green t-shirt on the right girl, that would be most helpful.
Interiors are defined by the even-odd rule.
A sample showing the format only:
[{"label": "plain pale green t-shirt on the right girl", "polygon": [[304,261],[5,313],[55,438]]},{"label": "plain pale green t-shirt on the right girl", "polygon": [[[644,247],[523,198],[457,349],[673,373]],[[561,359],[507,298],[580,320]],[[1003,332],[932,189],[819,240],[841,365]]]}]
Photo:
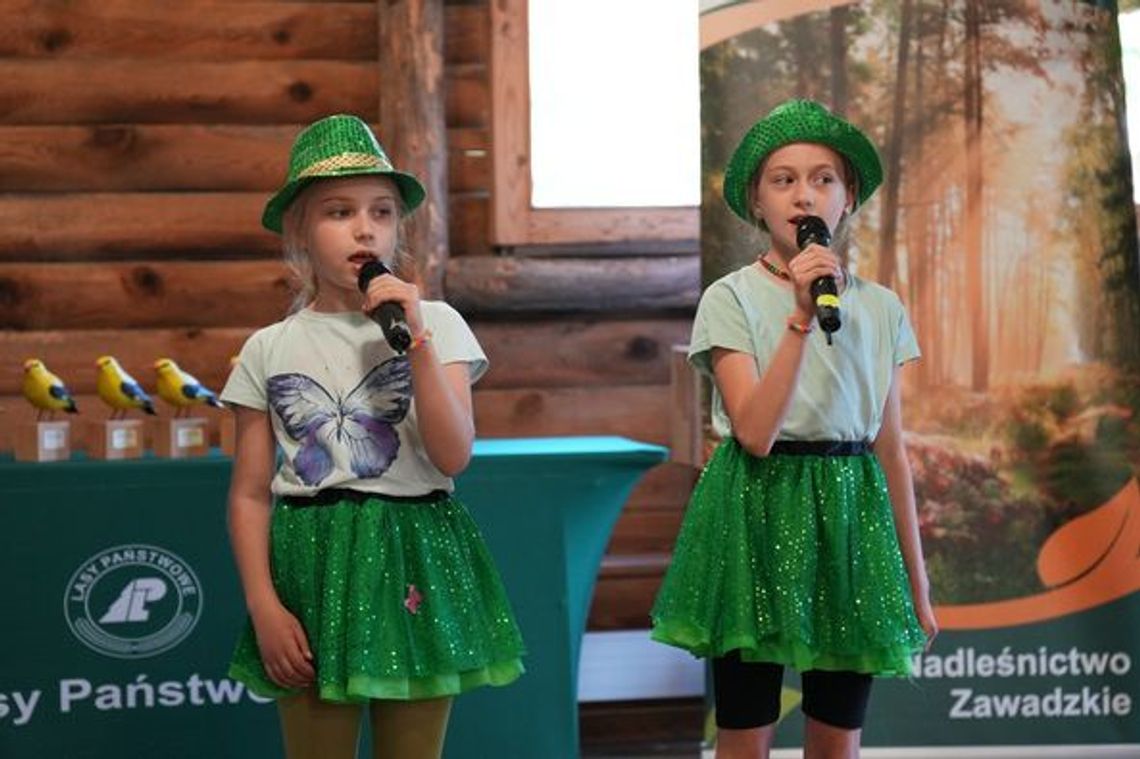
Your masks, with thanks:
[{"label": "plain pale green t-shirt on the right girl", "polygon": [[[711,350],[725,348],[754,356],[763,375],[795,307],[792,292],[756,266],[725,275],[701,296],[689,360],[711,377]],[[906,310],[890,289],[850,276],[839,310],[842,326],[832,345],[819,326],[807,336],[777,440],[874,440],[894,368],[919,357]],[[715,387],[712,426],[722,438],[731,436],[732,423]]]}]

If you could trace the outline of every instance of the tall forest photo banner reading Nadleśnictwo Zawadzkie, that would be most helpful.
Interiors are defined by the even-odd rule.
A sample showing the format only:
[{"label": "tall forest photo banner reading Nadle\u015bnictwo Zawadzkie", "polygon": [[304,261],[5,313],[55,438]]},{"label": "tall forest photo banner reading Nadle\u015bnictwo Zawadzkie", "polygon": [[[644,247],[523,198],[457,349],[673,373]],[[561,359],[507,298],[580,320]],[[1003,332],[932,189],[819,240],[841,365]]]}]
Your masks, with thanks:
[{"label": "tall forest photo banner reading Nadle\u015bnictwo Zawadzkie", "polygon": [[720,191],[776,104],[825,104],[883,162],[850,268],[898,293],[922,350],[904,422],[943,634],[877,685],[864,744],[1140,749],[1140,254],[1115,7],[706,0],[701,42],[706,285],[765,244]]}]

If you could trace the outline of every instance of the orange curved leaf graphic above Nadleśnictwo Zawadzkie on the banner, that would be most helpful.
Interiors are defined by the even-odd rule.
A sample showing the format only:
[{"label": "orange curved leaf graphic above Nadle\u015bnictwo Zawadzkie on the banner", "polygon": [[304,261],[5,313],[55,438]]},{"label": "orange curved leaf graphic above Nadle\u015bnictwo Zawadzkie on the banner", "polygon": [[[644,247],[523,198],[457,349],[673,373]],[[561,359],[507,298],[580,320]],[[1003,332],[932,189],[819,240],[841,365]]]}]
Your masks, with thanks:
[{"label": "orange curved leaf graphic above Nadle\u015bnictwo Zawadzkie on the banner", "polygon": [[1025,598],[937,606],[944,630],[984,630],[1057,619],[1140,590],[1140,483],[1060,528],[1037,555],[1049,590]]}]

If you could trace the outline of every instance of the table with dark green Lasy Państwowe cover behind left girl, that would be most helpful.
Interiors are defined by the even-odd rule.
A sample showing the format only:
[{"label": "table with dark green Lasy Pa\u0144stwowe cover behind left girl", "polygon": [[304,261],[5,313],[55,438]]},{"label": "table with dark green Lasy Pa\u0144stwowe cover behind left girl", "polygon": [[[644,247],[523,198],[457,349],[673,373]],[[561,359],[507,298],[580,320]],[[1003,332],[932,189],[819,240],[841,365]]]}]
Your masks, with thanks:
[{"label": "table with dark green Lasy Pa\u0144stwowe cover behind left girl", "polygon": [[[578,756],[578,653],[621,506],[666,450],[481,440],[458,493],[499,565],[527,674],[462,696],[448,759]],[[276,757],[276,712],[226,666],[244,609],[230,460],[0,460],[0,756]]]}]

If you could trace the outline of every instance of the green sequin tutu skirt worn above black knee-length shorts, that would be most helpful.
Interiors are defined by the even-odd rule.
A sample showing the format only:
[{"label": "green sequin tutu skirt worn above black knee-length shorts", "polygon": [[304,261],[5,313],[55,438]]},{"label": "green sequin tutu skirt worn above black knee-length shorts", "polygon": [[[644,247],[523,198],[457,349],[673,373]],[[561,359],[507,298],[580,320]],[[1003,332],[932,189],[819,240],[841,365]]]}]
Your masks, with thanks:
[{"label": "green sequin tutu skirt worn above black knee-length shorts", "polygon": [[656,640],[798,671],[905,676],[926,636],[872,454],[716,449],[653,605]]}]

